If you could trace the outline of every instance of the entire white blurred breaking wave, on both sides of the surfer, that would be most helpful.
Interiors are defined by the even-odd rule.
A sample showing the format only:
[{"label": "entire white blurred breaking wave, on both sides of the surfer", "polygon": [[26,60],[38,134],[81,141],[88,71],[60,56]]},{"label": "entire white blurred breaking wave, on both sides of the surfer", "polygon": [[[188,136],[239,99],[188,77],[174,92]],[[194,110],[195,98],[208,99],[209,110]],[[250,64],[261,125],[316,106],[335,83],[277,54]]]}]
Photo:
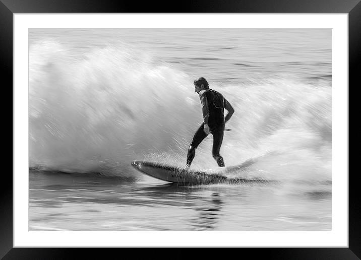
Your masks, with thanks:
[{"label": "entire white blurred breaking wave, on both sides of the surfer", "polygon": [[[33,44],[30,166],[129,175],[134,174],[132,160],[185,164],[202,122],[193,80],[125,46],[74,56],[56,42]],[[250,173],[280,181],[331,179],[328,84],[268,79],[210,82],[210,87],[235,109],[221,148],[227,166],[261,157]],[[197,149],[193,168],[217,166],[211,146],[210,136]]]}]

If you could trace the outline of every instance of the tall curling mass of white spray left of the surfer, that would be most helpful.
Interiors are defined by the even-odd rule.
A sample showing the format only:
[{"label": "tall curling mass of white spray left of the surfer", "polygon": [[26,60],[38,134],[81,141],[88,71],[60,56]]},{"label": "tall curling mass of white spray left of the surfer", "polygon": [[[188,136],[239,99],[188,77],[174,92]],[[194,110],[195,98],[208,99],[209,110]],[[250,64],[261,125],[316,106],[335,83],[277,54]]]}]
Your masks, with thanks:
[{"label": "tall curling mass of white spray left of the surfer", "polygon": [[74,60],[60,48],[30,49],[30,166],[123,174],[150,151],[183,149],[200,117],[184,74],[132,50],[106,47]]}]

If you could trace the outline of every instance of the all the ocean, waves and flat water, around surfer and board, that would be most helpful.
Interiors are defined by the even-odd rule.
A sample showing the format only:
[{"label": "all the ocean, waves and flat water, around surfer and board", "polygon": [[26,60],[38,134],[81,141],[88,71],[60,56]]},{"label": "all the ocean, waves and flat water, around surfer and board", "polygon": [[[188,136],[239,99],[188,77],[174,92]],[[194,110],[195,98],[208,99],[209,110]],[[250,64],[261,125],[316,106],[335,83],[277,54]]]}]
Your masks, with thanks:
[{"label": "all the ocean, waves and flat water, around surfer and board", "polygon": [[[29,30],[29,230],[331,230],[331,75],[330,29]],[[267,182],[131,166],[185,165],[199,77],[235,109],[226,166]]]}]

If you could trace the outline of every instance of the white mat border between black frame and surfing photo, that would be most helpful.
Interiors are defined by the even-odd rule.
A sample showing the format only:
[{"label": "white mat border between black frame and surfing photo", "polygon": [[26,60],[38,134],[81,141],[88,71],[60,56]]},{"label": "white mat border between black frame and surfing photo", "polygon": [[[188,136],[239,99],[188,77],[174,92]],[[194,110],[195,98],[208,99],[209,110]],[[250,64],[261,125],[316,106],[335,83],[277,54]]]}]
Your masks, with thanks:
[{"label": "white mat border between black frame and surfing photo", "polygon": [[[331,231],[29,231],[28,30],[331,28]],[[348,14],[14,14],[14,247],[348,247]]]}]

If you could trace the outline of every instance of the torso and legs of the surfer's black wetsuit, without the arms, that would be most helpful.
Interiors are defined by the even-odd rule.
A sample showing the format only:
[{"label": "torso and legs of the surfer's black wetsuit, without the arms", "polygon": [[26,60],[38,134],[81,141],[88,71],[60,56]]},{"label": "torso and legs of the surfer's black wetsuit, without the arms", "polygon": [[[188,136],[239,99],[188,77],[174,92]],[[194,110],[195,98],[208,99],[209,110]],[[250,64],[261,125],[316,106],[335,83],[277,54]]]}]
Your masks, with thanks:
[{"label": "torso and legs of the surfer's black wetsuit, without the arms", "polygon": [[[224,135],[224,97],[219,92],[206,89],[203,93],[207,97],[208,105],[208,126],[211,129],[211,134],[213,135],[213,147],[212,155],[213,158],[217,161],[219,167],[224,166],[223,158],[219,154],[219,150],[222,145],[223,135]],[[196,149],[199,144],[207,137],[208,135],[204,133],[204,122],[198,128],[196,134],[193,137],[192,143],[188,149],[187,153],[187,164],[191,165],[195,155]]]}]

